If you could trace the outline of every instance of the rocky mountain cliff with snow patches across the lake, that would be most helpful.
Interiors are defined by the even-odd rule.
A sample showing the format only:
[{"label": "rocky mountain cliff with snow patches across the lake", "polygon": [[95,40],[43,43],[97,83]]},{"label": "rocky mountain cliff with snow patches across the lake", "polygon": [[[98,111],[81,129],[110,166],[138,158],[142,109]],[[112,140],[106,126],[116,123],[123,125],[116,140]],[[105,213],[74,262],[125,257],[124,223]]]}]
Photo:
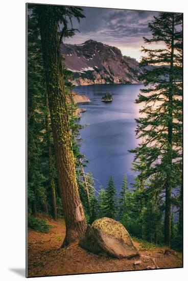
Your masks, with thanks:
[{"label": "rocky mountain cliff with snow patches across the lake", "polygon": [[101,42],[61,44],[65,66],[73,72],[75,85],[102,83],[138,83],[138,62]]}]

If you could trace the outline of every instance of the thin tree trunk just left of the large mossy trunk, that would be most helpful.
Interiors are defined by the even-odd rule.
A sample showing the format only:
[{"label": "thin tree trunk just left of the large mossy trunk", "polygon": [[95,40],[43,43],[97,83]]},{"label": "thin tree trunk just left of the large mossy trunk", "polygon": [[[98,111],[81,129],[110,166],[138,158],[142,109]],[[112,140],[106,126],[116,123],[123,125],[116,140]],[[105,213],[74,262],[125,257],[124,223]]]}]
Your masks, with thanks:
[{"label": "thin tree trunk just left of the large mossy trunk", "polygon": [[[48,109],[49,105],[48,105],[47,95],[45,95],[45,103],[46,103],[46,109]],[[50,182],[50,188],[51,188],[51,192],[52,192],[53,219],[55,221],[57,221],[56,190],[55,190],[55,180],[54,180],[54,161],[53,161],[51,142],[50,142],[50,123],[49,123],[48,110],[46,110],[46,114],[45,114],[45,127],[46,127],[46,137],[47,137],[48,150],[49,150],[49,182]]]}]

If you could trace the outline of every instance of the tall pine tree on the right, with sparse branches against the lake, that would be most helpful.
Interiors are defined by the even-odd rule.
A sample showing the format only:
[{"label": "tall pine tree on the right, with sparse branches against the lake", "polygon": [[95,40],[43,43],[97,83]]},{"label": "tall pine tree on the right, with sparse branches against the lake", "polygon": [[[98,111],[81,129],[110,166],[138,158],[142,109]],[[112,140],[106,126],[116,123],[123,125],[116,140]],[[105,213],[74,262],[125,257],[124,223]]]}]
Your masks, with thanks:
[{"label": "tall pine tree on the right, with sparse branches against the lake", "polygon": [[[180,179],[182,161],[182,14],[160,13],[149,24],[152,38],[145,43],[163,43],[162,49],[146,49],[140,66],[144,89],[136,103],[144,117],[136,120],[136,134],[143,142],[133,151],[135,160],[146,157],[145,178],[160,175],[156,189],[165,191],[165,244],[170,246],[171,193]],[[150,67],[147,67],[150,65]]]}]

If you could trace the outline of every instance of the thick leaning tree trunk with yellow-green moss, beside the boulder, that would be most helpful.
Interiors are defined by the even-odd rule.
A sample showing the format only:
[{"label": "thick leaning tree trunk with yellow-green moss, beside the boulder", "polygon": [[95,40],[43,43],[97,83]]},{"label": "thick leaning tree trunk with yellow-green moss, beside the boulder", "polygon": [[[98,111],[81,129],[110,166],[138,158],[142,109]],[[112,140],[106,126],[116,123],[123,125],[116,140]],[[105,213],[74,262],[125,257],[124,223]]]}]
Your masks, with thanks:
[{"label": "thick leaning tree trunk with yellow-green moss, beside the boulder", "polygon": [[37,5],[37,14],[59,188],[66,224],[66,236],[62,244],[65,246],[72,242],[78,242],[83,237],[86,230],[86,220],[76,180],[57,32],[57,14],[54,6],[50,5]]}]

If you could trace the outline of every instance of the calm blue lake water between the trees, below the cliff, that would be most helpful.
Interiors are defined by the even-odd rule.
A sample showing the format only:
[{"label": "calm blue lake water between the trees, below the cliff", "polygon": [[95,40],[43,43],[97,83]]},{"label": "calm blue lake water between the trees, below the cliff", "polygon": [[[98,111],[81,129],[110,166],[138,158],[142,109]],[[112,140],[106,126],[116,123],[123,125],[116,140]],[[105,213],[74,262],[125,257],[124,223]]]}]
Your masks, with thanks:
[{"label": "calm blue lake water between the trees, below the cliff", "polygon": [[[91,102],[79,105],[86,108],[80,124],[89,124],[81,130],[83,139],[81,153],[89,160],[86,172],[91,171],[97,179],[96,186],[106,186],[113,177],[117,190],[124,174],[128,182],[133,182],[135,172],[131,171],[134,155],[128,152],[135,148],[139,140],[135,137],[135,118],[139,116],[139,105],[134,101],[143,84],[103,84],[76,86],[74,90],[86,95]],[[104,103],[101,97],[110,92],[111,103]]]}]

